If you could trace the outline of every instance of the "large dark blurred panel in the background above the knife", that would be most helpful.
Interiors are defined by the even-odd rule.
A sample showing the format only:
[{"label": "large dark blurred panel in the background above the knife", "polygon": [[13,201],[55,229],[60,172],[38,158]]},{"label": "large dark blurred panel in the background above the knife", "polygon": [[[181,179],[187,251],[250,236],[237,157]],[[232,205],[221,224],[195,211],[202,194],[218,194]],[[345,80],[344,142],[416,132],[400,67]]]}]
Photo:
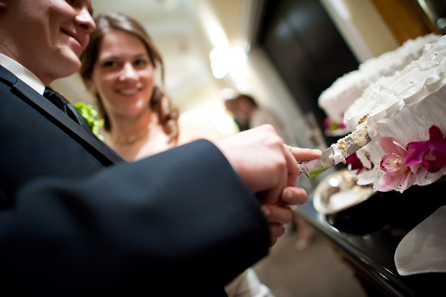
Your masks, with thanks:
[{"label": "large dark blurred panel in the background above the knife", "polygon": [[[319,0],[266,0],[257,43],[305,114],[323,128],[319,95],[358,61]],[[337,140],[337,139],[336,139]],[[326,137],[330,145],[333,139]]]}]

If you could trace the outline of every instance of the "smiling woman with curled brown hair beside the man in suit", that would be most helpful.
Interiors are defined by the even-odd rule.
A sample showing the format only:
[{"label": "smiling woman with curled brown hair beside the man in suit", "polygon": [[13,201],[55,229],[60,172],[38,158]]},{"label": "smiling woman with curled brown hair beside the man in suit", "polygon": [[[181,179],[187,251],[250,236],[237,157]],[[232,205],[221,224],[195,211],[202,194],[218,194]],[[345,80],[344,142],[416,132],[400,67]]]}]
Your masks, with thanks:
[{"label": "smiling woman with curled brown hair beside the man in suit", "polygon": [[[212,122],[194,111],[179,114],[154,83],[164,76],[163,59],[145,29],[133,18],[104,13],[81,56],[80,73],[97,98],[108,133],[106,142],[128,161],[205,138],[223,138]],[[225,287],[228,296],[274,297],[252,268]]]}]

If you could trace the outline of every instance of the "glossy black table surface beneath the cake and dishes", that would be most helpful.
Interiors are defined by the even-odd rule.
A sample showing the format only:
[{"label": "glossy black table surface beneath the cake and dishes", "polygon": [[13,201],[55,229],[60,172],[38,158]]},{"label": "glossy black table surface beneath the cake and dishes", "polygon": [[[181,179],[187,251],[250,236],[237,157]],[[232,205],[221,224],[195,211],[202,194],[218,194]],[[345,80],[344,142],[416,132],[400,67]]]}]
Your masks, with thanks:
[{"label": "glossy black table surface beneath the cake and dishes", "polygon": [[310,196],[295,212],[331,239],[345,260],[385,295],[445,296],[446,273],[400,276],[394,263],[401,239],[446,205],[445,185],[442,180],[412,186],[403,193],[378,192],[358,205],[330,215],[319,213]]}]

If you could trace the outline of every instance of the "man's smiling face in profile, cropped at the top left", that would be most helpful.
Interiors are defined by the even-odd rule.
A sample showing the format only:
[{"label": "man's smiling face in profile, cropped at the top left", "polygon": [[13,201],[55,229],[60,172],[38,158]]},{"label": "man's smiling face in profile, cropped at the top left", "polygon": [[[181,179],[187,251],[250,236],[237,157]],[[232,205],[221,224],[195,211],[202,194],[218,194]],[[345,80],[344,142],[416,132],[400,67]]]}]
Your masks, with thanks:
[{"label": "man's smiling face in profile, cropped at the top left", "polygon": [[[91,0],[4,1],[14,59],[45,84],[75,73],[94,30]],[[12,32],[11,32],[12,33]]]}]

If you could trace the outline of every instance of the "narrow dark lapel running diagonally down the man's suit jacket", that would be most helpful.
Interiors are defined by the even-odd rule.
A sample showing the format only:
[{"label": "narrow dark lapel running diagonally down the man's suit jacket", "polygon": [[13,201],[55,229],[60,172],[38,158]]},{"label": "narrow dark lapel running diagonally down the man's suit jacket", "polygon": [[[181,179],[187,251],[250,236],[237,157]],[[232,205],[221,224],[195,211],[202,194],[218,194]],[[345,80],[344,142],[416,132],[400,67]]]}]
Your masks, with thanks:
[{"label": "narrow dark lapel running diagonally down the man's suit jacket", "polygon": [[101,162],[104,165],[111,165],[115,163],[125,162],[121,157],[119,157],[111,148],[109,148],[104,142],[99,140],[90,131],[85,130],[81,125],[70,119],[65,113],[59,110],[53,103],[48,101],[42,95],[37,93],[33,88],[28,86],[22,80],[18,79],[10,71],[5,69],[0,65],[0,78],[6,81],[8,85],[11,86],[13,92],[14,90],[22,94],[19,96],[22,99],[29,100],[31,106],[36,110],[39,110],[44,115],[49,117],[49,119],[54,119],[56,124],[62,125],[67,132],[78,142],[88,146],[89,151],[94,150],[100,154]]}]

